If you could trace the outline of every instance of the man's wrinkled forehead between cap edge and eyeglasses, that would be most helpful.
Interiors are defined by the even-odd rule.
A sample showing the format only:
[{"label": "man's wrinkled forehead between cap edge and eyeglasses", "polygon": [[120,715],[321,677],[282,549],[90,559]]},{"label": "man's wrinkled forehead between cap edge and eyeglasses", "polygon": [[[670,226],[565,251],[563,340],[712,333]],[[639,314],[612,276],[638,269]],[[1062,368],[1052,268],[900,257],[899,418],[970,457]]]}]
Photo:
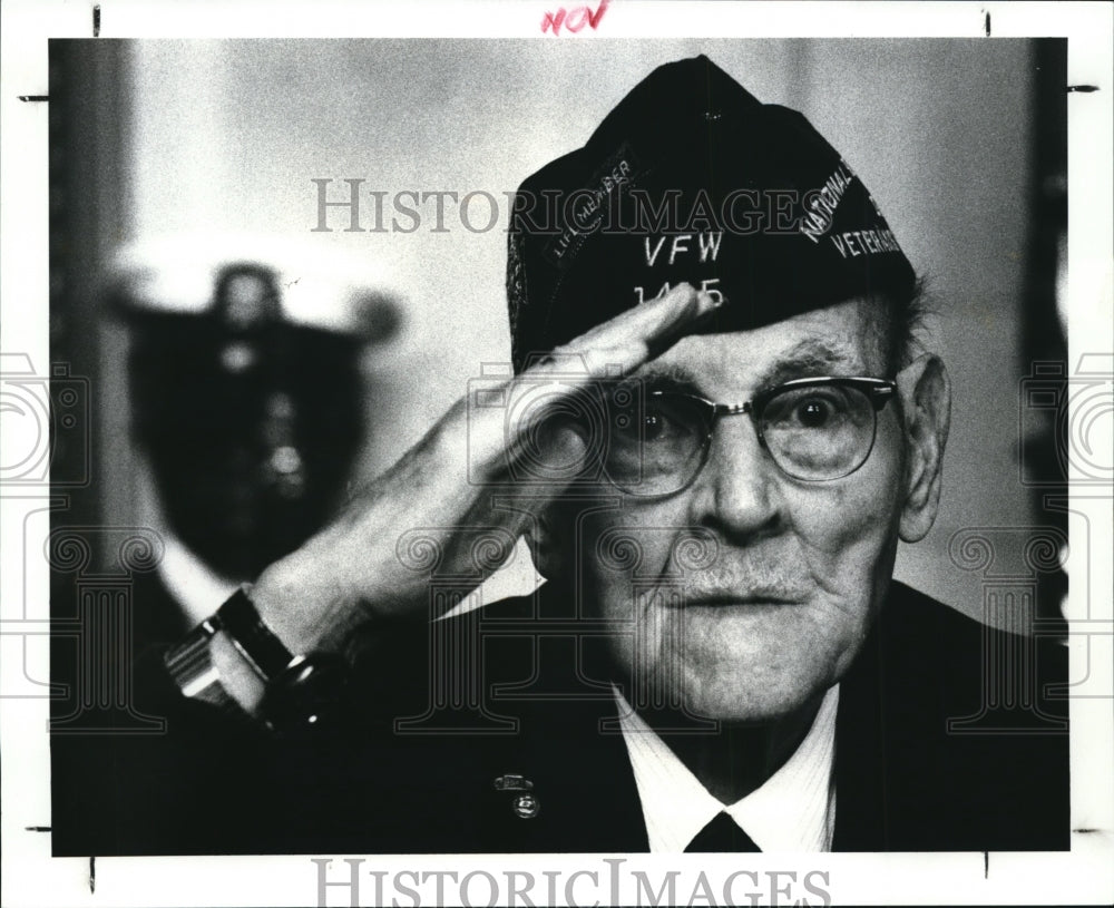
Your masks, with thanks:
[{"label": "man's wrinkled forehead between cap edge and eyeglasses", "polygon": [[636,377],[651,384],[734,397],[801,378],[882,378],[883,324],[881,304],[852,300],[749,331],[691,334]]}]

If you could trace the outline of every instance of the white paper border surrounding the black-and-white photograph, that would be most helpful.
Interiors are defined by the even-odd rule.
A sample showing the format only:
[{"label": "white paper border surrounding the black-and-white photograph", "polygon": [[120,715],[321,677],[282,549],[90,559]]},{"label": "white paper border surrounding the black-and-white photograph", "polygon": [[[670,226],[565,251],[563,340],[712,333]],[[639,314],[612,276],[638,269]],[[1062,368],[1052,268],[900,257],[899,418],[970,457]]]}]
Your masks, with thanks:
[{"label": "white paper border surrounding the black-and-white photograph", "polygon": [[[556,2],[116,2],[102,0],[100,38],[121,37],[507,37],[536,38],[538,22]],[[47,109],[19,96],[47,95],[47,40],[90,37],[92,3],[21,2],[3,6],[2,262],[0,318],[4,352],[27,352],[33,362],[49,361],[47,342],[48,224]],[[1097,92],[1075,94],[1068,106],[1069,154],[1069,352],[1094,349],[1095,339],[1112,336],[1112,10],[1104,3],[766,3],[670,2],[612,0],[607,37],[1066,37],[1069,84],[1094,85]],[[590,38],[589,38],[590,39]],[[12,497],[11,490],[2,492]],[[1110,490],[1106,490],[1110,492]],[[1093,494],[1093,492],[1092,492]],[[43,505],[48,496],[43,495]],[[1098,507],[1094,507],[1097,500]],[[1110,495],[1081,504],[1093,515],[1089,554],[1093,590],[1105,597],[1112,588]],[[0,501],[0,505],[7,502]],[[21,527],[3,524],[3,619],[19,613],[46,627],[46,567],[25,576],[27,565],[13,551]],[[1076,518],[1073,517],[1073,520]],[[1073,538],[1081,527],[1073,523]],[[26,590],[26,592],[25,592]],[[1078,590],[1073,589],[1073,596]],[[26,601],[22,597],[26,596]],[[17,602],[18,599],[18,602]],[[35,608],[31,609],[31,604]],[[1073,606],[1110,625],[1111,603]],[[22,611],[21,611],[22,609]],[[28,615],[28,609],[32,614]],[[1106,633],[1110,633],[1107,629]],[[1073,642],[1073,658],[1079,655]],[[1085,645],[1086,639],[1083,641]],[[1108,651],[1108,647],[1107,647]],[[4,643],[4,654],[12,652]],[[45,651],[43,651],[45,652]],[[1110,677],[1110,665],[1104,666]],[[1092,671],[1095,666],[1092,666]],[[3,684],[19,673],[19,662],[6,658]],[[43,670],[43,675],[46,674]],[[1111,692],[1114,697],[1114,691]],[[1114,898],[1114,700],[1073,701],[1073,816],[1075,799],[1107,804],[1106,824],[1076,833],[1064,853],[853,855],[776,856],[745,865],[730,857],[677,856],[677,891],[693,891],[686,880],[700,870],[721,876],[742,868],[776,866],[780,871],[825,871],[827,889],[838,904],[1085,904]],[[49,823],[48,701],[0,697],[0,743],[3,745],[2,832],[3,901],[31,906],[176,906],[176,905],[311,905],[316,904],[319,866],[311,857],[332,857],[330,880],[346,875],[344,856],[102,858],[96,865],[96,891],[90,891],[89,861],[51,858],[49,834],[30,831]],[[1086,779],[1084,784],[1083,779]],[[374,870],[422,872],[472,870],[502,873],[525,868],[535,872],[577,870],[604,875],[606,856],[352,856],[363,857],[362,902],[374,898]],[[762,856],[759,856],[762,857]],[[658,856],[629,856],[625,869],[659,872]],[[480,887],[478,892],[486,890]],[[606,896],[585,883],[590,900]],[[558,897],[565,890],[558,888]],[[388,890],[388,895],[390,891]],[[453,895],[450,890],[449,895]],[[624,889],[620,898],[633,896]],[[329,892],[329,904],[346,905],[344,887]],[[405,904],[405,902],[402,902]],[[452,904],[452,902],[450,902]]]}]

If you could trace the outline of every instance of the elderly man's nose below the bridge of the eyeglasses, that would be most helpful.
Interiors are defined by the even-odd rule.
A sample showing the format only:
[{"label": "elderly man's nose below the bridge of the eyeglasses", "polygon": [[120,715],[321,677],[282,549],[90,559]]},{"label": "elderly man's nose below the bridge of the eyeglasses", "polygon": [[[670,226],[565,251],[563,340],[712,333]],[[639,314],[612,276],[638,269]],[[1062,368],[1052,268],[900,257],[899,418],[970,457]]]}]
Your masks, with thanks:
[{"label": "elderly man's nose below the bridge of the eyeglasses", "polygon": [[721,418],[694,484],[695,523],[735,541],[772,535],[781,524],[778,467],[743,414]]}]

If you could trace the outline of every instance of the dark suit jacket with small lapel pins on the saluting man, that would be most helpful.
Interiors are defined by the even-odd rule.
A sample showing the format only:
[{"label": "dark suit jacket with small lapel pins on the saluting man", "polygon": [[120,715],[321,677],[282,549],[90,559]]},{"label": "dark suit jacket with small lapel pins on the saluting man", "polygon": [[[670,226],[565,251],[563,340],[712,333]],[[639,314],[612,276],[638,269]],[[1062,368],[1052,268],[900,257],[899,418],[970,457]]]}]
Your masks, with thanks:
[{"label": "dark suit jacket with small lapel pins on the saluting man", "polygon": [[[168,734],[53,742],[55,853],[644,851],[625,745],[600,732],[615,706],[590,643],[543,633],[559,624],[547,619],[543,597],[436,632],[379,628],[342,721],[307,740],[185,701],[153,662],[144,710]],[[457,703],[437,703],[431,634],[442,655],[482,641],[483,676],[453,689]],[[895,584],[841,682],[834,849],[1068,848],[1066,701],[1048,691],[1066,666],[1051,639]],[[532,783],[536,817],[497,790],[507,774]]]}]

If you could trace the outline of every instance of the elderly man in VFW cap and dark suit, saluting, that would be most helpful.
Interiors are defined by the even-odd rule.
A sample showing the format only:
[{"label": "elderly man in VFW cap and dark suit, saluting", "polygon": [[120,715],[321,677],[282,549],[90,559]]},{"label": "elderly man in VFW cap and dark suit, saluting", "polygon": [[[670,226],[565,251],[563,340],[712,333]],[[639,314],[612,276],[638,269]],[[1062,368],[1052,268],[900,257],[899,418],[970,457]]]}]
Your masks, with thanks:
[{"label": "elderly man in VFW cap and dark suit, saluting", "polygon": [[[655,70],[522,184],[508,292],[495,406],[453,407],[167,655],[172,734],[144,746],[203,781],[148,810],[184,850],[1067,847],[1066,735],[948,731],[1007,635],[891,579],[936,517],[948,375],[800,114],[703,57]],[[422,527],[438,576],[485,531],[548,583],[430,623],[400,556]]]}]

